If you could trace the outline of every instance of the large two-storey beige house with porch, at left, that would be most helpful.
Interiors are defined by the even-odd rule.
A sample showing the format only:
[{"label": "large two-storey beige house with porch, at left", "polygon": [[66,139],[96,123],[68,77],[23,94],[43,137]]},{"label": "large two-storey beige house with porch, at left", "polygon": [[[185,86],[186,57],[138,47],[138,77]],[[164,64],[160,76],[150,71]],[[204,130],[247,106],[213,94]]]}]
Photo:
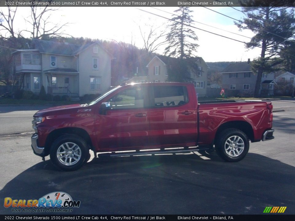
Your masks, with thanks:
[{"label": "large two-storey beige house with porch, at left", "polygon": [[20,89],[81,97],[111,87],[113,56],[98,42],[73,45],[33,40],[33,48],[13,52]]}]

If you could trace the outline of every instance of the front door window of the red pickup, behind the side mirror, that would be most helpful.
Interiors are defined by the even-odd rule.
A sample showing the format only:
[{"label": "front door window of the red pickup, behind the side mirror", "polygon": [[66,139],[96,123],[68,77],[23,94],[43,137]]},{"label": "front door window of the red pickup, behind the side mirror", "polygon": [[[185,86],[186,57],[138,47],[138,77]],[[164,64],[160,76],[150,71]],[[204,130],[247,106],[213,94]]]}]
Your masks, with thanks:
[{"label": "front door window of the red pickup, behind the side mirror", "polygon": [[144,107],[144,88],[133,87],[120,91],[108,100],[112,109],[130,109]]}]

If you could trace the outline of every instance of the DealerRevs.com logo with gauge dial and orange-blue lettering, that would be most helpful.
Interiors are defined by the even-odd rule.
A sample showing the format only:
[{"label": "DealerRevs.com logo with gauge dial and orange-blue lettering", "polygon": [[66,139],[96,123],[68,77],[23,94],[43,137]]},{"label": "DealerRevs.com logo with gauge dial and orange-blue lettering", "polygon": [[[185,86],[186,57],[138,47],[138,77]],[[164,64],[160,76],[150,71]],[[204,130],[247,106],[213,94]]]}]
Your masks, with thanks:
[{"label": "DealerRevs.com logo with gauge dial and orange-blue lettering", "polygon": [[72,212],[72,208],[80,207],[80,203],[65,192],[52,192],[39,200],[4,199],[4,207],[12,207],[12,212]]}]

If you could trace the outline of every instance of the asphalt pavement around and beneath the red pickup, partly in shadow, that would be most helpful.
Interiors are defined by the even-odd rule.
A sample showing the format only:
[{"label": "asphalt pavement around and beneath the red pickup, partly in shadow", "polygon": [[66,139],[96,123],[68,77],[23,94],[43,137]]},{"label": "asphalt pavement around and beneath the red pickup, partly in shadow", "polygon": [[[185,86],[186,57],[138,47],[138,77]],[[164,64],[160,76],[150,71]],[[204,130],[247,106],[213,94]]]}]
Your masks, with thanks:
[{"label": "asphalt pavement around and beneath the red pickup, partly in shadow", "polygon": [[[2,135],[0,203],[62,191],[81,200],[66,214],[263,214],[267,206],[286,206],[284,214],[295,214],[295,102],[286,103],[273,102],[287,109],[274,113],[275,139],[251,143],[237,163],[196,152],[98,158],[78,171],[60,172],[49,157],[41,161],[33,154],[27,134]],[[14,111],[7,107],[1,121]],[[26,113],[22,117],[31,121]],[[6,128],[20,120],[8,118]],[[0,214],[12,214],[11,208],[0,206]]]}]

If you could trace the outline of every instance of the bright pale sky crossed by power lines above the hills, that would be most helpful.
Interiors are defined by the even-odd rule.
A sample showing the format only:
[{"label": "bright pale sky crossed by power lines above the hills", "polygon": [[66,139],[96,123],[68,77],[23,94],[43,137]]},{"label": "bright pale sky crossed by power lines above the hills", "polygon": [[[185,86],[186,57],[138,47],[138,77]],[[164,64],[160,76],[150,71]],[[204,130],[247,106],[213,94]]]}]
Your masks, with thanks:
[{"label": "bright pale sky crossed by power lines above the hills", "polygon": [[[172,18],[172,15],[169,13],[174,13],[178,7],[140,7],[140,9],[163,17]],[[193,11],[191,15],[194,21],[218,28],[215,29],[195,22],[193,25],[199,29],[204,29],[244,42],[248,42],[250,39],[219,29],[238,33],[247,37],[253,36],[253,33],[249,30],[239,31],[238,27],[234,25],[234,20],[231,18],[203,7],[191,7],[190,9]],[[210,9],[239,20],[243,17],[241,12],[231,7],[211,7]],[[236,7],[236,9],[241,10],[239,7]],[[2,7],[2,10],[5,9]],[[29,7],[19,7],[17,15],[18,16],[15,18],[15,28],[29,28],[29,24],[26,23],[24,19],[30,15]],[[117,42],[124,41],[126,43],[134,43],[139,48],[142,48],[144,45],[139,26],[143,32],[148,32],[150,26],[161,26],[159,30],[169,30],[166,26],[169,24],[169,20],[140,11],[136,7],[61,7],[59,10],[52,13],[51,22],[59,24],[69,22],[70,24],[64,28],[64,33],[72,35],[73,37],[107,41],[114,40]],[[196,42],[199,48],[194,55],[202,57],[206,62],[247,61],[248,58],[253,60],[260,54],[260,48],[248,50],[241,42],[226,39],[199,29],[193,29],[199,38]],[[163,55],[164,48],[165,46],[160,47],[156,53]]]}]

